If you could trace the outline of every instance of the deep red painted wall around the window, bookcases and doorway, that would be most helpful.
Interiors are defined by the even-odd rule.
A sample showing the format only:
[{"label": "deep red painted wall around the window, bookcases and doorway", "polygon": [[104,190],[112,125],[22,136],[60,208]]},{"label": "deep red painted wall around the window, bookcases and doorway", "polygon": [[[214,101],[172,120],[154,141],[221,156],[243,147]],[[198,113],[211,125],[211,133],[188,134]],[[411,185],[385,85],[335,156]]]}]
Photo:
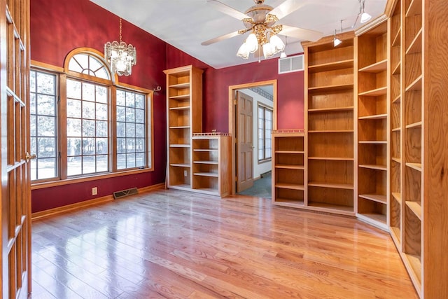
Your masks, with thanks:
[{"label": "deep red painted wall around the window, bookcases and doorway", "polygon": [[[31,60],[64,66],[66,55],[79,47],[104,52],[104,43],[119,39],[119,18],[88,0],[31,1]],[[126,188],[142,188],[165,181],[166,108],[164,69],[193,64],[204,69],[203,129],[228,132],[228,86],[277,79],[278,128],[303,127],[303,72],[277,74],[277,60],[214,69],[123,20],[123,41],[137,48],[132,75],[119,81],[142,88],[162,86],[154,94],[154,172],[32,190],[32,211],[111,195]],[[92,187],[98,195],[92,196]]]}]

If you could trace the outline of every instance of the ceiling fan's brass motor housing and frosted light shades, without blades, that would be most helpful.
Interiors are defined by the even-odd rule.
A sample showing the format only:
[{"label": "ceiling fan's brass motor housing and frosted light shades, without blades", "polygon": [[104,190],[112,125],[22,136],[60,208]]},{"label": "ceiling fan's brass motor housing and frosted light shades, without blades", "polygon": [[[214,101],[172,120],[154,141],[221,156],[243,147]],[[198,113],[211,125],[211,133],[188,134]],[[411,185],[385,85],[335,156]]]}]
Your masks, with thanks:
[{"label": "ceiling fan's brass motor housing and frosted light shades, without blades", "polygon": [[244,34],[251,30],[251,34],[237,52],[237,56],[243,59],[248,59],[250,53],[255,53],[257,50],[261,51],[261,48],[265,58],[272,57],[285,48],[283,41],[276,35],[281,32],[283,27],[281,25],[273,26],[279,19],[268,13],[272,8],[264,5],[258,7],[257,10],[248,11],[248,15],[252,18],[243,20],[248,29],[241,29],[238,32]]}]

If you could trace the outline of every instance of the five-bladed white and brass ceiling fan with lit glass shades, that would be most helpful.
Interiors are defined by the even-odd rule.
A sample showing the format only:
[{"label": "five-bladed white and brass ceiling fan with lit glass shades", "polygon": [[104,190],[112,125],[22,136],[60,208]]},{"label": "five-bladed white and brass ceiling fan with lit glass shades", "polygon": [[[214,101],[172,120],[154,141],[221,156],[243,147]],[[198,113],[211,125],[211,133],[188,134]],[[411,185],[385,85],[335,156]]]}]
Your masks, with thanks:
[{"label": "five-bladed white and brass ceiling fan with lit glass shades", "polygon": [[288,25],[275,25],[281,18],[286,17],[286,15],[304,6],[306,1],[286,0],[276,8],[264,4],[265,0],[253,1],[255,2],[255,6],[251,6],[245,13],[241,13],[218,0],[207,0],[207,4],[215,6],[218,11],[241,20],[246,28],[204,41],[201,43],[202,46],[208,46],[212,43],[238,36],[239,34],[251,32],[239,48],[237,56],[248,59],[250,53],[256,53],[257,50],[258,55],[260,55],[262,48],[263,55],[267,58],[283,51],[285,48],[283,41],[281,41],[277,34],[306,41],[317,41],[323,36],[322,32],[316,32],[310,29],[302,29]]}]

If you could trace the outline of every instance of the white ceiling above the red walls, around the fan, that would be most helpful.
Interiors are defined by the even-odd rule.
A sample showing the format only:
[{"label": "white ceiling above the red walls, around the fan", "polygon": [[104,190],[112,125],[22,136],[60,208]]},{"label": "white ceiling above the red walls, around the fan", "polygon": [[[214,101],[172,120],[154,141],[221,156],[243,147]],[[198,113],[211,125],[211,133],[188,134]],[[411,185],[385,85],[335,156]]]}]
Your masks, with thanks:
[{"label": "white ceiling above the red walls, around the fan", "polygon": [[[203,41],[245,28],[241,21],[217,11],[213,5],[207,4],[207,0],[90,1],[216,69],[258,60],[253,55],[248,60],[236,56],[248,33],[209,46],[201,46]],[[220,1],[242,13],[255,5],[253,0]],[[283,1],[265,0],[265,4],[275,8]],[[335,29],[340,32],[341,20],[344,32],[351,31],[359,13],[358,0],[297,0],[297,2],[303,3],[304,6],[276,24],[313,29],[328,36],[334,34]],[[384,13],[385,6],[386,0],[365,0],[365,11],[372,15],[372,20]],[[354,29],[358,27],[360,27],[359,20]],[[281,36],[281,39],[285,41],[284,36]],[[126,32],[123,32],[123,41],[132,43],[126,39]],[[288,37],[286,54],[302,51],[300,40]],[[273,58],[278,57],[279,54]]]}]

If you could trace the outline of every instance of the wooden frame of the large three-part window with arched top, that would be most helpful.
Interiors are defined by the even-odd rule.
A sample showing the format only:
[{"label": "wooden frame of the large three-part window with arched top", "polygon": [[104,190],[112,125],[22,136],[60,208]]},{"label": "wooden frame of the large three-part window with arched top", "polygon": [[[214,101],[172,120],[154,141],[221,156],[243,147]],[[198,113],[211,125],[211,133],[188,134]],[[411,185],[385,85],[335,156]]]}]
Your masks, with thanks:
[{"label": "wooden frame of the large three-part window with arched top", "polygon": [[[111,80],[106,80],[99,77],[90,76],[87,74],[80,74],[68,70],[69,60],[73,55],[79,53],[86,53],[96,57],[104,63],[107,71],[109,67],[104,62],[104,57],[99,51],[89,48],[78,48],[66,56],[64,68],[55,67],[50,64],[36,62],[31,60],[31,70],[40,71],[56,76],[57,81],[57,150],[59,158],[57,160],[57,176],[50,179],[41,179],[31,181],[31,189],[48,188],[50,186],[61,186],[67,183],[79,183],[83,181],[93,181],[97,179],[106,179],[116,176],[125,176],[129,174],[139,174],[144,172],[154,171],[154,121],[153,121],[153,90],[140,88],[134,85],[128,85],[118,82],[118,76],[111,76]],[[110,74],[110,72],[109,72]],[[66,139],[66,80],[73,78],[79,81],[89,81],[94,84],[106,85],[109,88],[109,171],[92,174],[81,174],[76,176],[67,176],[67,139]],[[116,90],[126,90],[129,92],[137,92],[145,96],[145,117],[146,117],[146,167],[135,167],[130,169],[117,169],[117,150],[116,150]]]}]

